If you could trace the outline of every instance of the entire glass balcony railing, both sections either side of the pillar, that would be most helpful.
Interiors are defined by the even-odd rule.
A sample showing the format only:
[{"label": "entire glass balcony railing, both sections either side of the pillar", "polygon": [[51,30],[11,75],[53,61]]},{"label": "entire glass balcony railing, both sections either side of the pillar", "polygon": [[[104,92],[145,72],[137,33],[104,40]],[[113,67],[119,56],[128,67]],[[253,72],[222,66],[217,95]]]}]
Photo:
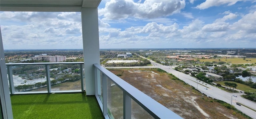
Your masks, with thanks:
[{"label": "entire glass balcony railing, both sections either side of the pillar", "polygon": [[[11,94],[84,92],[84,62],[6,63]],[[104,118],[181,119],[100,64],[94,64],[95,96]]]}]

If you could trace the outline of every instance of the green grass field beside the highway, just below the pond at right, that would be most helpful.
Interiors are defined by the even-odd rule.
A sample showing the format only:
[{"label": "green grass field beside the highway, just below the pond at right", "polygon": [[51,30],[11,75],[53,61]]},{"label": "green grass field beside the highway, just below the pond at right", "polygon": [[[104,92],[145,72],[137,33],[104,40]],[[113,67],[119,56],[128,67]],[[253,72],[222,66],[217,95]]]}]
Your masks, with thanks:
[{"label": "green grass field beside the highway, just below the pond at right", "polygon": [[220,85],[223,85],[223,86],[225,85],[224,82],[236,83],[237,84],[236,89],[240,89],[240,90],[245,91],[245,92],[256,92],[256,89],[251,88],[248,85],[244,85],[244,84],[237,83],[237,82],[234,82],[234,81],[214,81],[214,83],[220,83]]}]

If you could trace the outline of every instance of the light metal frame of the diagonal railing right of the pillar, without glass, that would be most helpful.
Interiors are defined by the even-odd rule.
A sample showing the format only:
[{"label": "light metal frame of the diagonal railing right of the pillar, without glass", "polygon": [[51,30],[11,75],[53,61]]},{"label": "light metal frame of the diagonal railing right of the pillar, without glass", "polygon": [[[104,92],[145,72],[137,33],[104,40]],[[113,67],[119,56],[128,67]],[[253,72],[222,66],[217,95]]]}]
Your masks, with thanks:
[{"label": "light metal frame of the diagonal railing right of the pillar, without glass", "polygon": [[[102,73],[102,95],[100,85],[100,72]],[[94,77],[95,77],[95,96],[98,100],[100,108],[102,109],[104,117],[110,118],[108,113],[108,98],[107,98],[107,79],[110,79],[115,85],[117,85],[123,91],[123,117],[124,119],[131,119],[132,116],[132,103],[133,99],[138,105],[140,105],[145,111],[147,111],[155,119],[182,119],[179,115],[164,107],[156,100],[152,99],[142,91],[133,87],[114,73],[108,71],[100,64],[94,64]],[[102,100],[101,100],[102,97]]]}]

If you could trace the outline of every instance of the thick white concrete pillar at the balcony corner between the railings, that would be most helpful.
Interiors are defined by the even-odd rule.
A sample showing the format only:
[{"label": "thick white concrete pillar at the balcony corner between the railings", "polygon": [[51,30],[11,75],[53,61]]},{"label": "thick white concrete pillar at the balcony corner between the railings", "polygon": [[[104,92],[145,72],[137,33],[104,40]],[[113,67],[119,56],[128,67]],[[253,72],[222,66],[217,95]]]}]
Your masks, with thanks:
[{"label": "thick white concrete pillar at the balcony corner between the railings", "polygon": [[93,64],[100,64],[98,8],[82,8],[81,17],[86,95],[95,95]]}]

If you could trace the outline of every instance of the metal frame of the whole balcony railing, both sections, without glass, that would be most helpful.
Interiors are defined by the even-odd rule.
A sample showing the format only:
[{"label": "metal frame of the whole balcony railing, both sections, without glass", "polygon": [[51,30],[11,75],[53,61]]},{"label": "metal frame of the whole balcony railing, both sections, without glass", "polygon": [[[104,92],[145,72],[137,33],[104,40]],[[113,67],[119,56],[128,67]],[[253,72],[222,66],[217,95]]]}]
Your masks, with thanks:
[{"label": "metal frame of the whole balcony railing, both sections, without glass", "polygon": [[[51,83],[50,83],[50,65],[51,64],[80,64],[80,75],[81,75],[81,91],[84,91],[84,80],[83,80],[83,71],[82,65],[84,62],[44,62],[44,63],[6,63],[7,71],[8,71],[8,79],[10,84],[10,93],[11,94],[29,94],[29,93],[42,93],[42,92],[15,92],[13,77],[12,77],[12,66],[16,65],[45,65],[46,70],[46,81],[47,81],[47,92],[53,93],[55,91],[51,91]],[[102,73],[102,77],[100,74]],[[102,85],[101,85],[102,78]],[[124,119],[131,119],[132,117],[132,99],[140,105],[145,111],[147,111],[152,117],[155,119],[182,119],[179,115],[171,111],[170,109],[164,107],[156,100],[152,99],[142,91],[133,87],[120,77],[116,76],[114,73],[108,71],[100,64],[94,64],[94,81],[95,81],[95,96],[100,105],[102,113],[106,119],[110,119],[112,116],[108,112],[108,90],[107,83],[108,79],[112,81],[115,85],[117,85],[123,91],[123,117]],[[102,92],[101,92],[102,87]],[[70,91],[58,91],[60,93],[70,92]],[[101,94],[102,93],[102,94]]]}]

